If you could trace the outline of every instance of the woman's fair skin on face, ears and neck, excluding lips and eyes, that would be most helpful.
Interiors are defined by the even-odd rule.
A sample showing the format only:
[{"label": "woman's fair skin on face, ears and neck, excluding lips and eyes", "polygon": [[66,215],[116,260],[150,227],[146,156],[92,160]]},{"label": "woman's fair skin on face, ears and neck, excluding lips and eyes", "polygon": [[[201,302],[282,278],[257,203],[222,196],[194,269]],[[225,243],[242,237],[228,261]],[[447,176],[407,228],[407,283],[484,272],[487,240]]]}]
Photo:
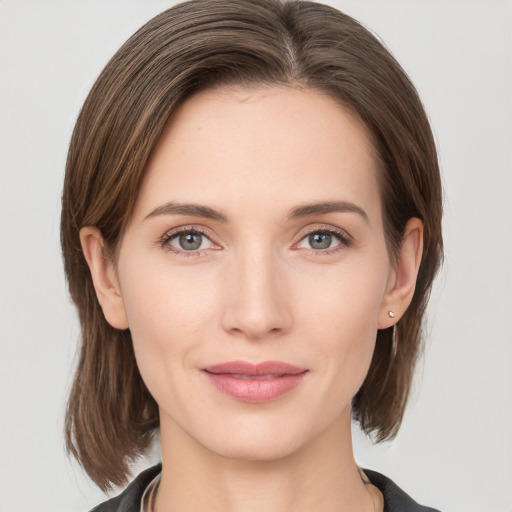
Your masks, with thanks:
[{"label": "woman's fair skin on face, ears and neck, excluding lips and eyes", "polygon": [[[159,405],[157,512],[382,508],[354,461],[350,403],[377,330],[410,303],[422,225],[409,221],[392,262],[377,172],[365,127],[326,95],[211,90],[168,123],[117,261],[103,258],[96,228],[82,229],[105,317],[130,329]],[[364,213],[290,216],[334,201]],[[163,211],[169,202],[225,219]],[[178,228],[200,230],[200,249],[185,250]],[[309,235],[326,230],[329,248],[312,245]],[[233,360],[283,361],[308,373],[275,400],[245,403],[202,371]]]}]

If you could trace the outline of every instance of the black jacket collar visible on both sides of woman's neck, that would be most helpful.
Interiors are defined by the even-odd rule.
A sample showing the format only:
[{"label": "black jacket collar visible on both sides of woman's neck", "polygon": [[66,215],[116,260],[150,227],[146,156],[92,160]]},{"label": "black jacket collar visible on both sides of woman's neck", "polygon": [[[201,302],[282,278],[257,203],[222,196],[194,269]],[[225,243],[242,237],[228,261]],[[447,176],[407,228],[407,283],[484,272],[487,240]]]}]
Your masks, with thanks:
[{"label": "black jacket collar visible on both sides of woman's neck", "polygon": [[[160,473],[158,464],[141,473],[119,496],[105,501],[91,512],[139,512],[140,501],[149,483]],[[418,505],[408,494],[402,491],[389,478],[376,471],[364,470],[370,482],[384,496],[384,512],[439,512],[433,508]]]}]

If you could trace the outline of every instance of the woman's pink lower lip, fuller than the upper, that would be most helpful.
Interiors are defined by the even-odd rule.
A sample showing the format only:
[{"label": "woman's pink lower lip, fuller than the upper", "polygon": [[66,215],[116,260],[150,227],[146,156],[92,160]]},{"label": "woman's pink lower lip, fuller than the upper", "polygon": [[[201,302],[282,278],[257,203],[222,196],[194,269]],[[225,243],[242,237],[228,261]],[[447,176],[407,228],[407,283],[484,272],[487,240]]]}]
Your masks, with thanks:
[{"label": "woman's pink lower lip, fuller than the upper", "polygon": [[205,372],[219,390],[241,402],[260,404],[270,402],[296,388],[307,372],[283,375],[275,379],[237,379],[229,374]]}]

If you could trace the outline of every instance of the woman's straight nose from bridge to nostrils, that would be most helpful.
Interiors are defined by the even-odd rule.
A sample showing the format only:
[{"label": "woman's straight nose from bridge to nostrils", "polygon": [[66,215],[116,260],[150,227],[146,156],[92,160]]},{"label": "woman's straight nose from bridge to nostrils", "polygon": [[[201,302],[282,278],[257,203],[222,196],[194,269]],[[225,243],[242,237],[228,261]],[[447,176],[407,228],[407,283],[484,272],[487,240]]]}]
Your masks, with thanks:
[{"label": "woman's straight nose from bridge to nostrils", "polygon": [[226,269],[223,328],[248,340],[278,337],[291,328],[291,294],[277,255],[247,248]]}]

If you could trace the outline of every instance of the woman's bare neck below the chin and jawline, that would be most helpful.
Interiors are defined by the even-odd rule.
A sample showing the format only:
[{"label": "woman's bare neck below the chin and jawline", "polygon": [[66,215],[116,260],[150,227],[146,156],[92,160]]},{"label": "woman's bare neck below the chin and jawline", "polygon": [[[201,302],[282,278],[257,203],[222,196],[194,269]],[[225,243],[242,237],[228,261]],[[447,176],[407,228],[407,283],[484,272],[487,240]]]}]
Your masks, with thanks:
[{"label": "woman's bare neck below the chin and jawline", "polygon": [[155,512],[372,512],[352,452],[350,414],[276,460],[221,456],[161,418],[162,476]]}]

